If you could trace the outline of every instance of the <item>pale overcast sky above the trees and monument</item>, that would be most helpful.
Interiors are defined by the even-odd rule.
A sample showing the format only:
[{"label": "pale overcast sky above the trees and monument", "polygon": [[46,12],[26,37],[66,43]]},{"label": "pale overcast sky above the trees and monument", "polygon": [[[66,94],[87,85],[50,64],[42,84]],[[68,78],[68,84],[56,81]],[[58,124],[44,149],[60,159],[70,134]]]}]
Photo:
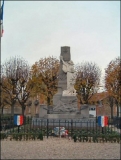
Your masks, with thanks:
[{"label": "pale overcast sky above the trees and monument", "polygon": [[5,1],[2,63],[59,59],[62,46],[75,64],[95,62],[104,74],[120,56],[120,1]]}]

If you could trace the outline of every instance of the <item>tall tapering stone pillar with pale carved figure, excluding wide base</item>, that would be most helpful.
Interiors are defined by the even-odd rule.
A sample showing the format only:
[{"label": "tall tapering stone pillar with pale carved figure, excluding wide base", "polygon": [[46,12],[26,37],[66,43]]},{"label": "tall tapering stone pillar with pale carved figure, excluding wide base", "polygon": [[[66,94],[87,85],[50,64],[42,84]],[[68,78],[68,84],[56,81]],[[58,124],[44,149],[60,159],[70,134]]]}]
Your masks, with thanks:
[{"label": "tall tapering stone pillar with pale carved figure, excluding wide base", "polygon": [[74,83],[74,63],[71,61],[70,47],[61,47],[58,92],[53,97],[53,113],[77,111]]}]

